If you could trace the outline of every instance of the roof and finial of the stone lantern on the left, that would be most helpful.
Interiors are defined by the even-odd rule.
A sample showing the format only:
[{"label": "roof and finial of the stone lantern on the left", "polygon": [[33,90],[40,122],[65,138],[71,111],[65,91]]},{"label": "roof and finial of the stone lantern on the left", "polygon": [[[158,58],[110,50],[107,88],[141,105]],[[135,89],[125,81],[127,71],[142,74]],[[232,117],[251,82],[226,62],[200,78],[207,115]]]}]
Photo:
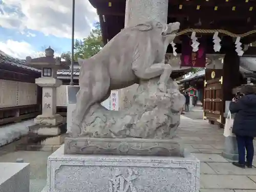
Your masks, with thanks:
[{"label": "roof and finial of the stone lantern on the left", "polygon": [[60,57],[54,58],[54,50],[49,47],[45,50],[44,57],[31,58],[30,56],[26,57],[26,65],[36,68],[52,68],[56,70],[60,69],[69,69],[71,61],[66,59],[65,61],[61,61]]}]

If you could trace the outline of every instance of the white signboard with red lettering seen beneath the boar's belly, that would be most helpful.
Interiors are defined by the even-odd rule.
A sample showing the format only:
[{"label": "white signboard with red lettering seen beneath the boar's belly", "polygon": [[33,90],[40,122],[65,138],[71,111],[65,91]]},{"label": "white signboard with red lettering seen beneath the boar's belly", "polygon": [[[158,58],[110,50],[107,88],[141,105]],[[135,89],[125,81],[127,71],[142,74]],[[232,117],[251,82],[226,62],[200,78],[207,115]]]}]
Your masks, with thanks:
[{"label": "white signboard with red lettering seen beneath the boar's belly", "polygon": [[104,100],[101,105],[104,108],[112,111],[119,111],[119,90],[111,91],[111,94],[108,99]]}]

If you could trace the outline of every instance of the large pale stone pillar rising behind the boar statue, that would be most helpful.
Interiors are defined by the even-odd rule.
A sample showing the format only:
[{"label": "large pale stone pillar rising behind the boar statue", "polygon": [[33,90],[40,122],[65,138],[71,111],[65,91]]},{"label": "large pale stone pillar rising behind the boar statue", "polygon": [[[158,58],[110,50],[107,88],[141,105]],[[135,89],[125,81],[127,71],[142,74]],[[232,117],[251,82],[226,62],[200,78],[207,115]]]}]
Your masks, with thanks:
[{"label": "large pale stone pillar rising behind the boar statue", "polygon": [[[135,26],[148,20],[167,22],[168,0],[126,0],[124,27]],[[130,108],[137,84],[120,90],[119,108]]]}]

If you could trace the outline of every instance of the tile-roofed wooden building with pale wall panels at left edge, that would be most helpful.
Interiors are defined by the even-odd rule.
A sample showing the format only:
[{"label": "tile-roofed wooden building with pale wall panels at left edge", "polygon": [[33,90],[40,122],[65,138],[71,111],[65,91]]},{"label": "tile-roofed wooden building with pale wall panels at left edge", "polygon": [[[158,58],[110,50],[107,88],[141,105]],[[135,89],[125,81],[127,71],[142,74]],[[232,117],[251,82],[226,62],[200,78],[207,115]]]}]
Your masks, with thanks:
[{"label": "tile-roofed wooden building with pale wall panels at left edge", "polygon": [[41,111],[40,70],[0,51],[0,126],[36,117]]}]

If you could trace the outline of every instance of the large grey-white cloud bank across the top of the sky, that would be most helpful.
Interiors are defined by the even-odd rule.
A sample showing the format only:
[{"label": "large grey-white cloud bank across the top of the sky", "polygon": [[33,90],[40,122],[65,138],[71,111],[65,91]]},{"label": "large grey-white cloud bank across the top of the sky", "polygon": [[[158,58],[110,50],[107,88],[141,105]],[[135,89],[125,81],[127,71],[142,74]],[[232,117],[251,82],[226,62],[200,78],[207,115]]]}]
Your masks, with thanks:
[{"label": "large grey-white cloud bank across the top of the sky", "polygon": [[[71,0],[2,0],[0,26],[37,30],[45,35],[71,38]],[[2,14],[1,14],[2,12]],[[75,1],[75,36],[86,37],[98,20],[96,10],[88,0]]]}]

